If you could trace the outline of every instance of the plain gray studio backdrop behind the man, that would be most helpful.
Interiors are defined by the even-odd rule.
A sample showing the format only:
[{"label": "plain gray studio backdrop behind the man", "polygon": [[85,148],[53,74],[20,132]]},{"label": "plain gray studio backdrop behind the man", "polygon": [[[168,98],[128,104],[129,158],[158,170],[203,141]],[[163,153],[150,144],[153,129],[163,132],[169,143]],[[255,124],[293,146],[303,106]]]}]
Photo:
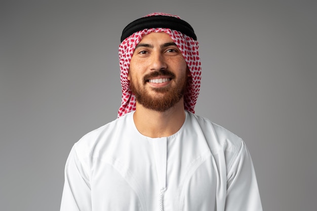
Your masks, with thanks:
[{"label": "plain gray studio backdrop behind the man", "polygon": [[71,146],[116,118],[122,29],[167,12],[200,41],[196,113],[245,140],[264,210],[316,210],[316,9],[316,1],[1,1],[0,209],[59,209]]}]

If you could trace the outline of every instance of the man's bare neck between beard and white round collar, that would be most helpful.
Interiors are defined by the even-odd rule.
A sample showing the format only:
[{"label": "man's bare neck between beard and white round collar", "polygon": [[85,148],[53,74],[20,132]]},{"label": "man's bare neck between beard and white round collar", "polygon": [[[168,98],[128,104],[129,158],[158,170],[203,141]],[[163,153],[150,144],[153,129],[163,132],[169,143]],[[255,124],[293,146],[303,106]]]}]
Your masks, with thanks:
[{"label": "man's bare neck between beard and white round collar", "polygon": [[164,112],[147,109],[136,103],[133,119],[136,128],[144,136],[151,138],[171,136],[181,128],[185,121],[183,99]]}]

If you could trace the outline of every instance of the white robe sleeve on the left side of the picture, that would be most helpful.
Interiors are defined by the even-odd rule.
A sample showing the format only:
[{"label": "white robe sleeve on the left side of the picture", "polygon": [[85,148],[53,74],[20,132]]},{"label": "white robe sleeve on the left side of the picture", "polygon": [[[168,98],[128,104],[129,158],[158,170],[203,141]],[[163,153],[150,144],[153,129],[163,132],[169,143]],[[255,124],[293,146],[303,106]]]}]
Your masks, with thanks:
[{"label": "white robe sleeve on the left side of the picture", "polygon": [[73,146],[65,165],[65,183],[60,211],[92,210],[91,188],[87,172],[87,167],[84,167]]}]

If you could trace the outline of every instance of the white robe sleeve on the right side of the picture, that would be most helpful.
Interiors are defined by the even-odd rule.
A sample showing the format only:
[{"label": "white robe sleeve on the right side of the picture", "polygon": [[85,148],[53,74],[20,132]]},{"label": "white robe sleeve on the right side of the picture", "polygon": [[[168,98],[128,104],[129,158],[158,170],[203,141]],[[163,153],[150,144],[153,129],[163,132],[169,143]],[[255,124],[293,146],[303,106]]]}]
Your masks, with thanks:
[{"label": "white robe sleeve on the right side of the picture", "polygon": [[250,153],[242,141],[227,174],[226,211],[262,211]]}]

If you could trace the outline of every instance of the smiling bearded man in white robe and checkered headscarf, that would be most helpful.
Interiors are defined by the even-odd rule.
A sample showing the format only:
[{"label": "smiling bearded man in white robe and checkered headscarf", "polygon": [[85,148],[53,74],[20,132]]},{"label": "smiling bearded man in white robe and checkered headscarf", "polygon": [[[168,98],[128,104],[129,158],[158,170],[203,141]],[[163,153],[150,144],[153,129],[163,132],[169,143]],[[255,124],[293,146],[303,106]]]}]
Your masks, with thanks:
[{"label": "smiling bearded man in white robe and checkered headscarf", "polygon": [[245,143],[194,114],[201,63],[192,27],[153,13],[121,41],[118,118],[71,149],[61,210],[262,210]]}]

